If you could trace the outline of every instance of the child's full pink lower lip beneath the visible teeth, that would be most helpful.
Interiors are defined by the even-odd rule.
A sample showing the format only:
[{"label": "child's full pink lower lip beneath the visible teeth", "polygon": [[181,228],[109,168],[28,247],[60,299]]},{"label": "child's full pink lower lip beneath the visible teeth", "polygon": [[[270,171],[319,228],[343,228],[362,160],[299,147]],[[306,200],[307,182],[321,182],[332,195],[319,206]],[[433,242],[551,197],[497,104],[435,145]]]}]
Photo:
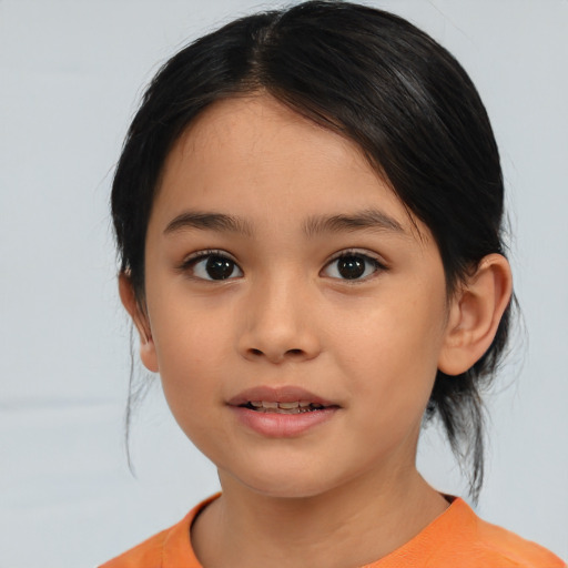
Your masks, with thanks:
[{"label": "child's full pink lower lip beneath the visible teeth", "polygon": [[298,414],[262,413],[242,406],[230,406],[237,419],[254,432],[271,438],[293,438],[329,420],[338,410],[329,407]]}]

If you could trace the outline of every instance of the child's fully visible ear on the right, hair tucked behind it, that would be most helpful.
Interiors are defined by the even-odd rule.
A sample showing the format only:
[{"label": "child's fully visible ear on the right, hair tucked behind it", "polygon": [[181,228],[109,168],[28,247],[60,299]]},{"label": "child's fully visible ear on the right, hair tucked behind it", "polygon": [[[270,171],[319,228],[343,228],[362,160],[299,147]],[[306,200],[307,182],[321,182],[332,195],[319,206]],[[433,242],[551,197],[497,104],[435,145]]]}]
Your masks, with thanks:
[{"label": "child's fully visible ear on the right, hair tucked behind it", "polygon": [[468,371],[489,348],[511,296],[507,258],[489,254],[450,302],[438,369],[447,375]]}]

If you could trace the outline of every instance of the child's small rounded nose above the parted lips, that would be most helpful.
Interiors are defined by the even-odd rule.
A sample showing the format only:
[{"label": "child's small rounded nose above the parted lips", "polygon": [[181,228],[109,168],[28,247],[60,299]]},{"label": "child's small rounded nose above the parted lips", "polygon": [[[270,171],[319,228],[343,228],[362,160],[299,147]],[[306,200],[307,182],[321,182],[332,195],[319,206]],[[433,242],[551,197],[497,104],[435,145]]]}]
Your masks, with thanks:
[{"label": "child's small rounded nose above the parted lips", "polygon": [[314,301],[297,282],[263,282],[251,288],[244,308],[241,355],[282,364],[310,361],[321,352]]}]

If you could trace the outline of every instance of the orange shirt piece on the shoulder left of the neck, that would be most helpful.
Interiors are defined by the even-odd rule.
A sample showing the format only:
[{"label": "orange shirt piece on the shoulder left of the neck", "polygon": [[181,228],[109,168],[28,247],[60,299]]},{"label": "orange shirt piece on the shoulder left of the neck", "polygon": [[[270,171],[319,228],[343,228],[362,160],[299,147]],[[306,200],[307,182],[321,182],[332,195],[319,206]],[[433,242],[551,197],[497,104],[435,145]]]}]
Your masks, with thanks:
[{"label": "orange shirt piece on the shoulder left of the neck", "polygon": [[201,568],[191,546],[190,529],[214,495],[194,507],[180,523],[109,560],[99,568]]}]

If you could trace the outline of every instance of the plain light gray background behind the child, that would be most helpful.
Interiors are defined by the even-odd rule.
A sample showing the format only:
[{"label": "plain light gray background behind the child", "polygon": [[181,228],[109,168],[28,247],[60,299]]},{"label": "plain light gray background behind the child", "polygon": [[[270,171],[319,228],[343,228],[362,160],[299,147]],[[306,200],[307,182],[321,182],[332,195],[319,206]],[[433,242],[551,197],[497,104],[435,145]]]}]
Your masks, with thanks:
[{"label": "plain light gray background behind the child", "polygon": [[[490,398],[494,523],[568,557],[568,2],[385,0],[479,88],[510,195],[529,341]],[[89,567],[179,520],[217,487],[159,388],[128,470],[129,326],[109,186],[143,85],[187,39],[275,2],[0,2],[0,568]],[[428,430],[420,464],[464,481]]]}]

